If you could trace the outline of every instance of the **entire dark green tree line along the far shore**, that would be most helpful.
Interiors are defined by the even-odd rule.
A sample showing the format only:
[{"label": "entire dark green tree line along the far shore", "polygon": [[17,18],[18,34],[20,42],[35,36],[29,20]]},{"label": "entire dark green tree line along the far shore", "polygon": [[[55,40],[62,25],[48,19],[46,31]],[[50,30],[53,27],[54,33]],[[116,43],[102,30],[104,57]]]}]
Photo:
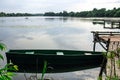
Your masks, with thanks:
[{"label": "entire dark green tree line along the far shore", "polygon": [[5,13],[0,12],[0,17],[4,16],[68,16],[68,17],[120,17],[120,8],[113,8],[106,10],[106,8],[94,8],[91,11],[82,12],[45,12],[44,14],[30,14],[30,13]]}]

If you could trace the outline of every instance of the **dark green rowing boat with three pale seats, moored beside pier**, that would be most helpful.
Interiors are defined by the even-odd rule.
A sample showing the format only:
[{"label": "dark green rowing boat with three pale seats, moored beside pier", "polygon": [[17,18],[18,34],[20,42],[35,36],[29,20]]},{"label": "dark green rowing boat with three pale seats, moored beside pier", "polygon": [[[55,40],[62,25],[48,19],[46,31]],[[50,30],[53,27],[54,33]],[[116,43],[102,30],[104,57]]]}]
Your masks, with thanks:
[{"label": "dark green rowing boat with three pale seats, moored beside pier", "polygon": [[76,50],[10,50],[7,63],[18,65],[18,72],[40,73],[47,61],[47,73],[69,72],[99,67],[102,52]]}]

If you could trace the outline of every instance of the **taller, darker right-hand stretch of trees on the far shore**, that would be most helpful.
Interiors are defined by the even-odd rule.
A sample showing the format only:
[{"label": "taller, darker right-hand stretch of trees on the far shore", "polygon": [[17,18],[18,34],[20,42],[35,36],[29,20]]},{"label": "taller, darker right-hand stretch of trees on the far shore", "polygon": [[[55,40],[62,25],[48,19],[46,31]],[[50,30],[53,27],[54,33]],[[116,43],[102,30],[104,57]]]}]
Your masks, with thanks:
[{"label": "taller, darker right-hand stretch of trees on the far shore", "polygon": [[82,12],[46,12],[44,16],[70,16],[70,17],[120,17],[120,8],[113,8],[106,10],[106,8],[97,9],[94,8],[91,11]]}]

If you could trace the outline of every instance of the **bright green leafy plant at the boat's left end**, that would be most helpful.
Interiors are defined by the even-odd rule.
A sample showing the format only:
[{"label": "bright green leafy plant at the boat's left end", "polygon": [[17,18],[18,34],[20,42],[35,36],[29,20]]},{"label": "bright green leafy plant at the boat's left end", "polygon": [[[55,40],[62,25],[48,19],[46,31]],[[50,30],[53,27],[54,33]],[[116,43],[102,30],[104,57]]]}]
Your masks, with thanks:
[{"label": "bright green leafy plant at the boat's left end", "polygon": [[[5,50],[6,50],[6,45],[0,43],[0,51],[5,51]],[[0,53],[0,60],[4,60],[2,53]],[[17,65],[14,65],[12,62],[6,64],[4,67],[0,66],[0,80],[12,80],[12,77],[15,75],[15,73],[9,72],[9,70],[17,71],[18,67]]]}]

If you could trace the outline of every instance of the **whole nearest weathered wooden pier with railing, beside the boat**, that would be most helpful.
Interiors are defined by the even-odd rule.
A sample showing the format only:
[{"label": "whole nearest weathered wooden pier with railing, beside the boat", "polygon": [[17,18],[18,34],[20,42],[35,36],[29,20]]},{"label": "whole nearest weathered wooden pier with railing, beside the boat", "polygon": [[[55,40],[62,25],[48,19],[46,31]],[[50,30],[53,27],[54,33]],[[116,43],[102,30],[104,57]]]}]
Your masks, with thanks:
[{"label": "whole nearest weathered wooden pier with railing, beside the boat", "polygon": [[[103,72],[105,72],[106,77],[110,77],[109,80],[113,80],[112,77],[120,78],[120,63],[119,66],[117,63],[117,61],[120,61],[120,53],[117,52],[117,50],[120,49],[120,32],[92,31],[92,33],[94,42],[93,50],[95,51],[96,43],[99,43],[107,52],[106,57],[103,59],[103,64],[101,65],[99,77],[102,77]],[[115,56],[112,58],[107,57],[113,54],[109,53],[110,51],[114,51]],[[102,77],[100,80],[106,79]]]}]

